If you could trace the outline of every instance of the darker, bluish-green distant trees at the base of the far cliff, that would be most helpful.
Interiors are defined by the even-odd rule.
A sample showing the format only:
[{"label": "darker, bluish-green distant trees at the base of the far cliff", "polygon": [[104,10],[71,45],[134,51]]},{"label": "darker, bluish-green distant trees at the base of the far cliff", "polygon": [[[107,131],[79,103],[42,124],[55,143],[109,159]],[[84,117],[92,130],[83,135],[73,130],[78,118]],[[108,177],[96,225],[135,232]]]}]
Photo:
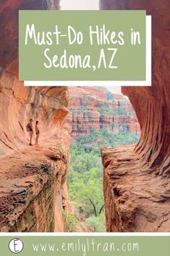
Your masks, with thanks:
[{"label": "darker, bluish-green distant trees at the base of the far cliff", "polygon": [[[102,168],[101,162],[101,147],[102,146],[119,146],[119,145],[129,145],[135,144],[139,140],[139,136],[135,133],[129,131],[121,131],[120,133],[113,133],[113,131],[108,131],[101,129],[97,131],[92,129],[89,136],[80,136],[76,143],[71,145],[72,152],[72,163],[73,165],[80,165],[80,160],[82,160],[82,165],[86,167],[88,165],[90,170],[92,167]],[[98,161],[98,156],[100,160]],[[84,167],[82,166],[82,170]],[[75,167],[77,168],[77,167]],[[81,169],[81,168],[80,168]],[[81,171],[80,171],[81,172]]]}]

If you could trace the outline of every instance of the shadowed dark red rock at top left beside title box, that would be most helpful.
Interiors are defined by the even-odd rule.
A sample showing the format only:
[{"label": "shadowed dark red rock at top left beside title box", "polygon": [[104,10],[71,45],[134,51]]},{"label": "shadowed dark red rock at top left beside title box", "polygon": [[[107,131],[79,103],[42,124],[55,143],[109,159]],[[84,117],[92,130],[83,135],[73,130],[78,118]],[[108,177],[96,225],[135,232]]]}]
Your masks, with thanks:
[{"label": "shadowed dark red rock at top left beside title box", "polygon": [[60,0],[1,0],[1,67],[9,71],[9,73],[18,73],[18,11],[30,9],[59,9],[59,2]]}]

